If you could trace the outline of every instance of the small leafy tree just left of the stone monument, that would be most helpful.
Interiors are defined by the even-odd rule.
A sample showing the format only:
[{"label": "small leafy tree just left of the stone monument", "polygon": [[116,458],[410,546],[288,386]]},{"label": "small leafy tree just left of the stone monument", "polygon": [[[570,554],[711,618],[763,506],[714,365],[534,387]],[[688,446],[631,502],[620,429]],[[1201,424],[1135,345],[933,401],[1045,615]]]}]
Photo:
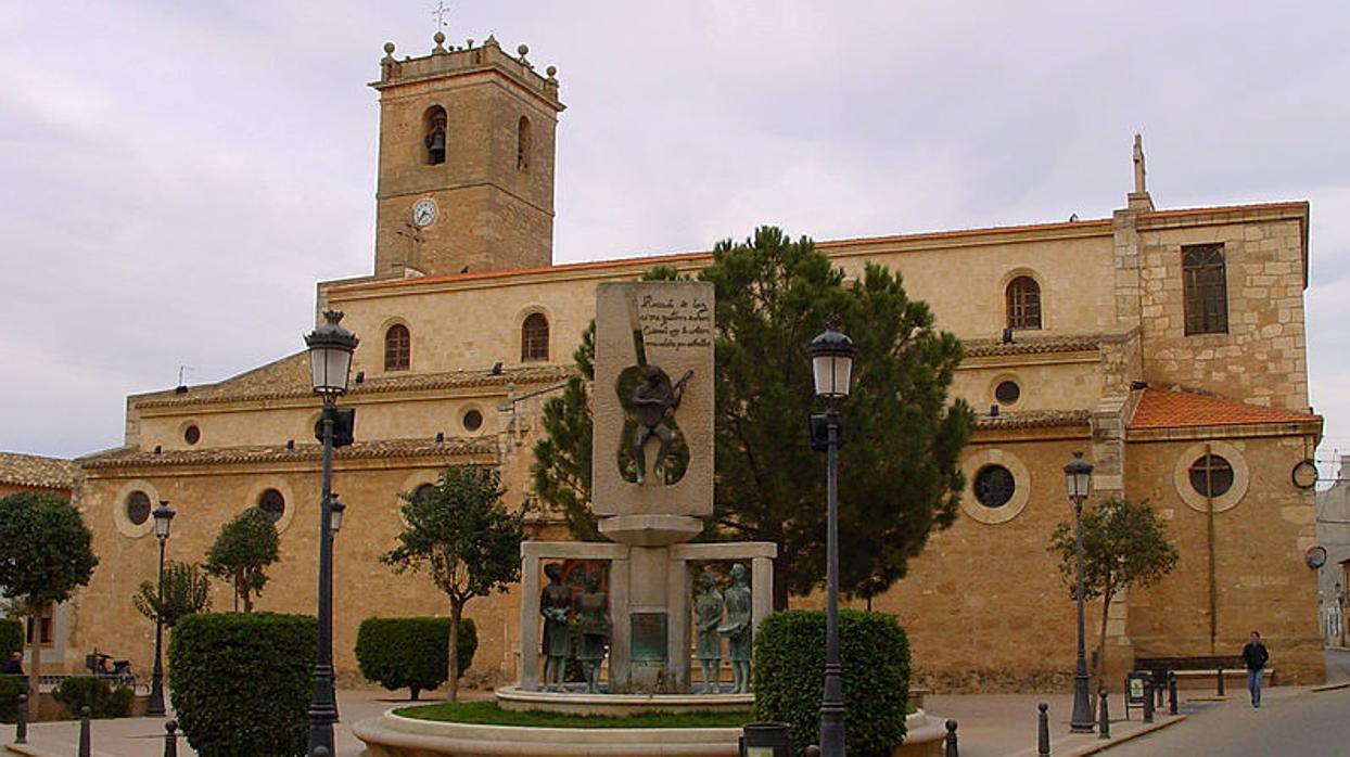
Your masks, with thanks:
[{"label": "small leafy tree just left of the stone monument", "polygon": [[520,578],[524,510],[501,506],[501,476],[491,468],[447,468],[423,495],[404,494],[404,532],[381,557],[396,573],[427,571],[450,599],[447,699],[459,695],[459,622],[474,596],[506,591]]}]

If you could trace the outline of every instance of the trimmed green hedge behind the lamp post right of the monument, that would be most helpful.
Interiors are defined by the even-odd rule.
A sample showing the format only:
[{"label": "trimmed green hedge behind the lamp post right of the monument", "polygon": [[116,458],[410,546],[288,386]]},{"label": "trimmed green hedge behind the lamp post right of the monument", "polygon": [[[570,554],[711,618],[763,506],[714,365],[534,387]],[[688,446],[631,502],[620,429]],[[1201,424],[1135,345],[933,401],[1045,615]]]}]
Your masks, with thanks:
[{"label": "trimmed green hedge behind the lamp post right of the monument", "polygon": [[[910,645],[894,615],[840,611],[844,731],[849,757],[888,756],[905,739]],[[755,717],[792,726],[801,754],[819,741],[825,690],[825,613],[788,610],[755,637]]]}]

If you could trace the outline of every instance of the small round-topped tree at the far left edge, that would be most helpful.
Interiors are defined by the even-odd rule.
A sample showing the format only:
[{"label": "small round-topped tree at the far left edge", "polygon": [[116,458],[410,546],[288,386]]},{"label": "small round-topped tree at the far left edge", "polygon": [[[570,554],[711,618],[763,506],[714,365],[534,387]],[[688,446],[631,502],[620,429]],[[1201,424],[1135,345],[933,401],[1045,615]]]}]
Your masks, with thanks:
[{"label": "small round-topped tree at the far left edge", "polygon": [[[0,498],[0,590],[30,618],[88,586],[99,559],[80,510],[55,494],[20,491]],[[22,642],[20,642],[22,650]],[[42,646],[32,648],[28,700],[36,707]]]}]

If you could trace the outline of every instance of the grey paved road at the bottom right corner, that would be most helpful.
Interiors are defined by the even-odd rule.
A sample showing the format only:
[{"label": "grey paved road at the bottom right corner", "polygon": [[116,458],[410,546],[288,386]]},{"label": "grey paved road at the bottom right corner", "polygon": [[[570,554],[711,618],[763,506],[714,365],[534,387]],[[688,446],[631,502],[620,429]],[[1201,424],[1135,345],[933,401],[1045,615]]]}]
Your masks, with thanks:
[{"label": "grey paved road at the bottom right corner", "polygon": [[1261,708],[1235,692],[1230,702],[1185,703],[1185,722],[1122,744],[1111,757],[1345,757],[1350,754],[1350,688],[1272,688]]}]

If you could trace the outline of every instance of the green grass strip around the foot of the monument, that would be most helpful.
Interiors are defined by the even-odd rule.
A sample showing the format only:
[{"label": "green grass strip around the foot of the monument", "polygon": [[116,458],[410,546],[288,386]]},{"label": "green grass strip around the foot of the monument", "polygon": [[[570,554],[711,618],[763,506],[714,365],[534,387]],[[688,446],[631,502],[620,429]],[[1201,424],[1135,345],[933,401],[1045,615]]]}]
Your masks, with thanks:
[{"label": "green grass strip around the foot of the monument", "polygon": [[562,712],[510,712],[495,702],[441,702],[402,707],[396,715],[418,721],[477,726],[528,726],[537,729],[738,729],[753,722],[749,712],[640,712],[624,715],[566,715]]}]

